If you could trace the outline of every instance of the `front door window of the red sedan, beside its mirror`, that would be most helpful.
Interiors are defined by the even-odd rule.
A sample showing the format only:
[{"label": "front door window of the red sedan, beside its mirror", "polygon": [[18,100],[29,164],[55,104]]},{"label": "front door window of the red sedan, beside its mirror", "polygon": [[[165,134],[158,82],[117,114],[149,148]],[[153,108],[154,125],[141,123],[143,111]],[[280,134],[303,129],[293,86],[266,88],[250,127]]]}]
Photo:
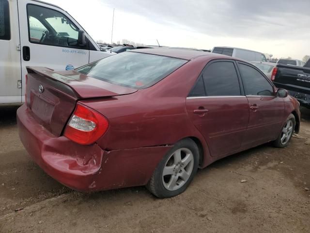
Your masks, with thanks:
[{"label": "front door window of the red sedan, beside its mirror", "polygon": [[244,64],[238,66],[247,96],[273,96],[272,85],[259,71]]}]

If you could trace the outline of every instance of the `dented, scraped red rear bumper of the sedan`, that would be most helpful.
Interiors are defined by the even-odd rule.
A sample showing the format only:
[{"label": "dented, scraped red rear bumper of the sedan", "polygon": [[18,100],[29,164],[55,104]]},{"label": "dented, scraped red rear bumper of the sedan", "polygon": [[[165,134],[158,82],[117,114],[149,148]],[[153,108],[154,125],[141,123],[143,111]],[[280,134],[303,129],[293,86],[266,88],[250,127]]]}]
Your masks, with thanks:
[{"label": "dented, scraped red rear bumper of the sedan", "polygon": [[24,104],[17,110],[19,137],[32,159],[72,189],[97,191],[145,185],[169,146],[102,150],[57,137],[40,125]]}]

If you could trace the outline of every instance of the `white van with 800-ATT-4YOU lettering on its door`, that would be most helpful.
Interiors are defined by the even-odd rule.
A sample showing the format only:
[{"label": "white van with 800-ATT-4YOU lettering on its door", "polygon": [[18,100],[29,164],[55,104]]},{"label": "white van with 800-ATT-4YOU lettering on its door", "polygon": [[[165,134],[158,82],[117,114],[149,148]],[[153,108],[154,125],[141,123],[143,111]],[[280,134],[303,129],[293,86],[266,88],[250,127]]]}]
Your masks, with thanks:
[{"label": "white van with 800-ATT-4YOU lettering on its door", "polygon": [[39,0],[0,0],[0,105],[24,102],[26,66],[73,69],[100,51],[62,8]]}]

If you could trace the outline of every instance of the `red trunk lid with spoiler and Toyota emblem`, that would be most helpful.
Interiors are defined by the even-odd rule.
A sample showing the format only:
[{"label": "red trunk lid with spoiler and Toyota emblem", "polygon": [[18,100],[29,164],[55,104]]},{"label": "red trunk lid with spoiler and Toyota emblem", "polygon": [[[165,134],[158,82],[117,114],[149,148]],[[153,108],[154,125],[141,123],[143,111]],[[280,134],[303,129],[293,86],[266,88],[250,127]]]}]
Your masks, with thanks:
[{"label": "red trunk lid with spoiler and Toyota emblem", "polygon": [[56,136],[62,134],[78,100],[109,98],[136,89],[107,83],[74,70],[27,67],[26,104],[32,116]]}]

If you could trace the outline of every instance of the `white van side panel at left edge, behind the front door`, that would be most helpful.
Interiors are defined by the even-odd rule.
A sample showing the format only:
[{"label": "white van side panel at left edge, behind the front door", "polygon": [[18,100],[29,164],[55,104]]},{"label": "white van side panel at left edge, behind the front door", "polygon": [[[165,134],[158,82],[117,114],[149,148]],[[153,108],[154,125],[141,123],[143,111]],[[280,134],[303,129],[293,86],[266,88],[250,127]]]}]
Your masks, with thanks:
[{"label": "white van side panel at left edge, behind the front door", "polygon": [[21,102],[17,3],[0,0],[0,104]]}]

